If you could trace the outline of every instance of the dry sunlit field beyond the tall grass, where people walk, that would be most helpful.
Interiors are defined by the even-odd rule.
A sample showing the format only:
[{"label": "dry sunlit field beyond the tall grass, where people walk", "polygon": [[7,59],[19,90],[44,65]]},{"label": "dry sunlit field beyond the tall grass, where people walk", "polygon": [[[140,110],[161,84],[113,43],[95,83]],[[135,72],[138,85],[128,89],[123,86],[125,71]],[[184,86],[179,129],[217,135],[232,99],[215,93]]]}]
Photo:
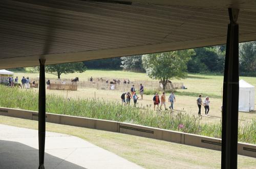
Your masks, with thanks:
[{"label": "dry sunlit field beyond the tall grass, where people walk", "polygon": [[[19,79],[22,76],[29,76],[30,78],[35,78],[39,76],[39,73],[16,73],[15,76],[18,76]],[[116,78],[129,78],[130,80],[152,80],[146,73],[134,73],[126,71],[116,71],[116,70],[87,70],[83,73],[71,73],[63,74],[61,78],[73,78],[78,76],[80,81],[87,80],[88,77],[116,77]],[[46,74],[46,78],[57,78],[57,76],[52,74]],[[256,86],[256,77],[240,77],[251,85]],[[203,97],[210,97],[210,117],[203,117],[203,122],[219,122],[221,120],[221,111],[220,107],[222,105],[222,86],[223,86],[223,76],[220,75],[205,75],[205,74],[188,74],[185,79],[172,80],[174,82],[183,82],[184,86],[187,87],[187,90],[177,90],[176,91],[176,103],[175,109],[184,110],[189,114],[197,115],[198,107],[196,105],[196,99],[199,94],[202,94]],[[146,86],[144,86],[146,89]],[[38,90],[38,89],[34,89]],[[123,91],[125,92],[125,91]],[[122,91],[105,91],[97,89],[78,89],[78,91],[56,91],[56,90],[47,90],[48,94],[57,94],[62,95],[63,97],[72,97],[72,98],[104,98],[112,100],[120,100],[120,95]],[[256,93],[255,93],[256,94]],[[168,94],[166,95],[168,97]],[[152,105],[153,95],[145,95],[144,100],[139,100],[138,103],[142,106]],[[256,97],[255,97],[256,98]],[[256,103],[256,99],[255,99]],[[256,105],[255,105],[256,108]],[[204,108],[202,107],[202,115],[204,114]],[[239,119],[241,122],[249,121],[251,119],[256,119],[256,112],[239,112]]]}]

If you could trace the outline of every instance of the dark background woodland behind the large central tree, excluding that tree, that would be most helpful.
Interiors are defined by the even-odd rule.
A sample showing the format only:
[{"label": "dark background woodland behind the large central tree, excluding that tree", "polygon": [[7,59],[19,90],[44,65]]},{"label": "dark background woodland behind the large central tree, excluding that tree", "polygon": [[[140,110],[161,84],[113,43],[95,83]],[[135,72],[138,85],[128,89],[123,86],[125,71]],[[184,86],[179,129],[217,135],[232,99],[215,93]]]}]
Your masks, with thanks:
[{"label": "dark background woodland behind the large central tree, excluding that tree", "polygon": [[[208,46],[189,49],[186,62],[189,73],[220,73],[224,72],[226,45]],[[193,54],[192,54],[193,53]],[[83,62],[89,69],[114,69],[135,72],[146,72],[142,63],[143,55],[120,57]],[[240,75],[256,76],[256,41],[239,44]],[[172,63],[175,63],[174,61]],[[170,64],[172,64],[170,63]]]}]

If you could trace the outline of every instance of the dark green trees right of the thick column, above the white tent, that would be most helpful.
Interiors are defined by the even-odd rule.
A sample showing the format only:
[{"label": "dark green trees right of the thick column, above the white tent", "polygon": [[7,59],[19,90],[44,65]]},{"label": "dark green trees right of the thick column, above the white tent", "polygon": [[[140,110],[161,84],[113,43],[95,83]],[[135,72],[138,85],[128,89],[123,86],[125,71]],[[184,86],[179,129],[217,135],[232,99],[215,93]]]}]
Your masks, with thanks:
[{"label": "dark green trees right of the thick column, above the white tent", "polygon": [[240,73],[249,75],[256,72],[256,41],[239,44]]}]

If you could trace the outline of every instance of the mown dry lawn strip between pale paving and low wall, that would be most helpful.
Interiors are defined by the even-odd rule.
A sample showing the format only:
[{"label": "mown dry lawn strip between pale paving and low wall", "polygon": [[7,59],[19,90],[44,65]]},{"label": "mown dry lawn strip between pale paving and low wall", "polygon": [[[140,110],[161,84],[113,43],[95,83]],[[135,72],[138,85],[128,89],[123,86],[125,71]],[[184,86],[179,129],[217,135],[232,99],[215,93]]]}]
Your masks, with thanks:
[{"label": "mown dry lawn strip between pale paving and low wall", "polygon": [[[38,122],[0,116],[0,123],[37,129]],[[221,152],[95,129],[47,123],[46,130],[74,135],[145,168],[220,168]],[[238,156],[238,168],[255,168],[255,158]]]}]

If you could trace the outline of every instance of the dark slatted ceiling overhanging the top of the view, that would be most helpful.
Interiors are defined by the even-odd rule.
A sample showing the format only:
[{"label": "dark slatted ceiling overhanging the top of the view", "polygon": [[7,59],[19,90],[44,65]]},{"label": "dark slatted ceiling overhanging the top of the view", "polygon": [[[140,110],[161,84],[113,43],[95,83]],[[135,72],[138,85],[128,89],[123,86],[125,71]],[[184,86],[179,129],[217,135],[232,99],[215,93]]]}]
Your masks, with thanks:
[{"label": "dark slatted ceiling overhanging the top of the view", "polygon": [[256,40],[255,1],[105,2],[1,0],[0,69],[225,44],[228,7],[240,42]]}]

